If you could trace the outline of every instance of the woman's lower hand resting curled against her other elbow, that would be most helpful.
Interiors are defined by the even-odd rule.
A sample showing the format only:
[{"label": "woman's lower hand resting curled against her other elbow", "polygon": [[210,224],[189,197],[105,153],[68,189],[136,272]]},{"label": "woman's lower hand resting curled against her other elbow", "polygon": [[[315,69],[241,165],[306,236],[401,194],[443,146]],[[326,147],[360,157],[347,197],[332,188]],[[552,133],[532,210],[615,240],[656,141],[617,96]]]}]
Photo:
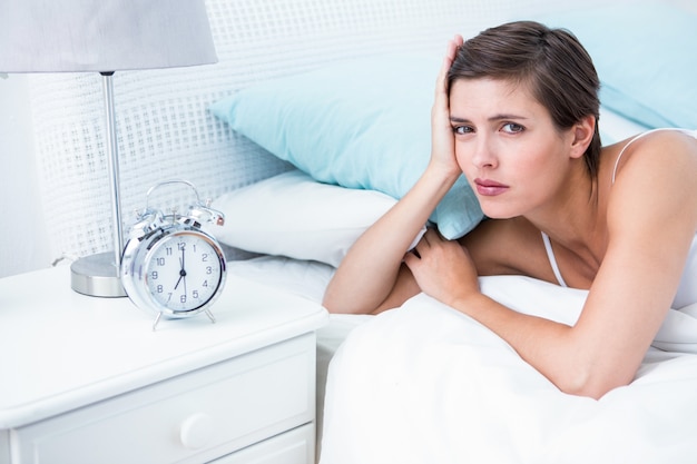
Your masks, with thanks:
[{"label": "woman's lower hand resting curled against her other elbow", "polygon": [[454,306],[479,294],[479,280],[469,253],[457,240],[445,240],[435,229],[429,229],[415,249],[408,253],[404,264],[426,295]]}]

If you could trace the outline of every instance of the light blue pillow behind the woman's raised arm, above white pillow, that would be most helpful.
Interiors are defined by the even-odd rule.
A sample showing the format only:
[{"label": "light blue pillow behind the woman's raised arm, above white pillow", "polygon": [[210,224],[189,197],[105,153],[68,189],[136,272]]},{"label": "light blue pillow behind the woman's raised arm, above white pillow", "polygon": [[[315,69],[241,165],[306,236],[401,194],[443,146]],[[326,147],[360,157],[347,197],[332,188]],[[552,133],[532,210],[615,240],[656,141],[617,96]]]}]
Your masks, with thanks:
[{"label": "light blue pillow behind the woman's raised arm, above white pillow", "polygon": [[[439,56],[342,61],[268,80],[212,106],[237,132],[314,179],[401,198],[431,157]],[[446,238],[482,219],[463,176],[431,220]]]}]

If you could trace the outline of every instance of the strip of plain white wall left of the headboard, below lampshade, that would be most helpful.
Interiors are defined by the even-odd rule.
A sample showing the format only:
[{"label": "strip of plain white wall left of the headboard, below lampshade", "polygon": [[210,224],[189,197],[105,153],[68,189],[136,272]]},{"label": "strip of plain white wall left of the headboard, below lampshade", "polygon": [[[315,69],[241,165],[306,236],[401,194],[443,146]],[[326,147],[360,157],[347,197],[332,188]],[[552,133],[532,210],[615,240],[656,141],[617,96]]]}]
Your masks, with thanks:
[{"label": "strip of plain white wall left of the headboard, below lampshade", "polygon": [[0,277],[51,264],[24,76],[0,78]]}]

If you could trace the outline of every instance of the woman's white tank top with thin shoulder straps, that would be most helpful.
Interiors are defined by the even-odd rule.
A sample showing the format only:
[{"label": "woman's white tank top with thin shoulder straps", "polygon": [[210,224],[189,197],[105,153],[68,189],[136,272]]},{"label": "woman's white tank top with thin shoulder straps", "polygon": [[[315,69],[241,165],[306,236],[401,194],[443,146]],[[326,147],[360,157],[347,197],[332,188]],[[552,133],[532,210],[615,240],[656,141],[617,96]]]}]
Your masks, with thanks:
[{"label": "woman's white tank top with thin shoulder straps", "polygon": [[[693,131],[686,129],[654,129],[638,135],[637,137],[629,140],[619,152],[617,161],[615,162],[615,169],[612,169],[612,184],[615,184],[615,176],[617,174],[619,160],[625,154],[627,147],[629,147],[634,141],[640,139],[641,137],[659,130],[677,130],[697,139],[697,130]],[[547,251],[547,257],[549,258],[549,264],[552,267],[557,282],[562,287],[567,287],[567,283],[563,280],[561,272],[559,270],[559,265],[557,264],[557,258],[554,257],[554,250],[552,249],[552,244],[549,239],[549,236],[544,233],[542,233],[542,241],[544,243],[544,250]],[[695,235],[695,238],[693,239],[693,244],[688,251],[687,264],[685,265],[685,270],[683,272],[683,277],[680,278],[680,286],[678,287],[678,293],[676,294],[671,307],[675,309],[679,309],[694,303],[697,303],[697,234]]]}]

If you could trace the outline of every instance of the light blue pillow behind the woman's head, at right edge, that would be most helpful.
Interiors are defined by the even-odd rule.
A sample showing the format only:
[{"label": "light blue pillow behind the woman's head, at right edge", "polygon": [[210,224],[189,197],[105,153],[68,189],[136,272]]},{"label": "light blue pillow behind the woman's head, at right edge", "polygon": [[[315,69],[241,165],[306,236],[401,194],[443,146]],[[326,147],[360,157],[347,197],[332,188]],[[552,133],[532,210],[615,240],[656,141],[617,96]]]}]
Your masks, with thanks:
[{"label": "light blue pillow behind the woman's head, at right edge", "polygon": [[697,128],[696,13],[632,2],[537,19],[570,30],[586,47],[603,106],[649,128]]}]

